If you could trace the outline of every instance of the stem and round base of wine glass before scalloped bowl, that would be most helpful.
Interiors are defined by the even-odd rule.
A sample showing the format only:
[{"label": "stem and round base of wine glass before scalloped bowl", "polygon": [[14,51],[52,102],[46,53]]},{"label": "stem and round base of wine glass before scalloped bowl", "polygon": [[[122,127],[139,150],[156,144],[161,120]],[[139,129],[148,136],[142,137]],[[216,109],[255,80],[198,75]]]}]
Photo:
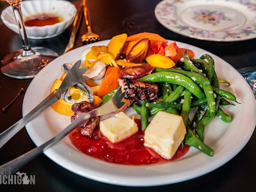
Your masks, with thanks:
[{"label": "stem and round base of wine glass before scalloped bowl", "polygon": [[45,65],[55,59],[58,54],[45,47],[31,48],[28,43],[20,9],[22,0],[6,1],[12,6],[18,30],[20,32],[20,38],[22,40],[22,49],[14,51],[3,58],[1,72],[9,77],[17,79],[33,78]]}]

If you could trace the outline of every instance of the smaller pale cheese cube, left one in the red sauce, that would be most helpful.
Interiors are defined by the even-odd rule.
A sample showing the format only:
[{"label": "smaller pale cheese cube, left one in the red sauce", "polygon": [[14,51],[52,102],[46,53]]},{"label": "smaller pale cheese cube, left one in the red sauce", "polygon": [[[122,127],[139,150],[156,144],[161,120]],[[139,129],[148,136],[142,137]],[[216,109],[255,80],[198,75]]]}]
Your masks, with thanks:
[{"label": "smaller pale cheese cube, left one in the red sauce", "polygon": [[100,122],[101,133],[112,143],[119,142],[135,134],[138,126],[125,113],[115,114],[115,117]]}]

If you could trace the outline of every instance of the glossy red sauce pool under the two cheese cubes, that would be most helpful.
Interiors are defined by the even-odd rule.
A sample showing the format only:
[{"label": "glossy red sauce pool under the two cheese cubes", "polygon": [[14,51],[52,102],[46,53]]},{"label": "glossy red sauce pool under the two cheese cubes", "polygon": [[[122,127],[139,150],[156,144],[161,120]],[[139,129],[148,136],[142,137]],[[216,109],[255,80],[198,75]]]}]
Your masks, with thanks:
[{"label": "glossy red sauce pool under the two cheese cubes", "polygon": [[125,165],[147,165],[176,160],[188,152],[189,146],[184,144],[178,148],[175,156],[167,160],[153,150],[144,147],[144,132],[140,128],[140,119],[135,119],[139,131],[133,136],[118,143],[111,143],[96,129],[91,138],[81,134],[80,128],[69,134],[73,145],[81,152],[104,161]]}]

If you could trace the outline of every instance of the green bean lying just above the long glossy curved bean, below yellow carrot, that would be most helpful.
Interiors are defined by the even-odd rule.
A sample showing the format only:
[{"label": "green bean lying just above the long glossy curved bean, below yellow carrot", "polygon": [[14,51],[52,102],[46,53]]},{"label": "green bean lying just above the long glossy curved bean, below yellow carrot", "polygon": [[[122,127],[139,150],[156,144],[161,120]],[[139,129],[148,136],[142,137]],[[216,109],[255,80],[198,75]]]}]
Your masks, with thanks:
[{"label": "green bean lying just above the long glossy curved bean, below yellow carrot", "polygon": [[193,81],[196,81],[202,85],[209,85],[210,81],[206,79],[202,74],[198,74],[191,71],[184,71],[184,70],[177,70],[177,69],[162,69],[162,68],[156,68],[156,72],[163,72],[163,71],[169,71],[174,73],[180,73],[184,74],[185,76],[191,78]]}]

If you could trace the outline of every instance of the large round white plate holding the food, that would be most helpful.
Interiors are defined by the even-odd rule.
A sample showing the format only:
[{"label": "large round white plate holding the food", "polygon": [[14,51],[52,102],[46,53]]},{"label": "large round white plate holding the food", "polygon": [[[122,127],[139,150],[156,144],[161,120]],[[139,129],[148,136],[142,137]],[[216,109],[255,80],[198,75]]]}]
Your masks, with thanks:
[{"label": "large round white plate holding the food", "polygon": [[[100,41],[77,48],[56,58],[43,68],[27,89],[23,101],[23,116],[49,94],[53,81],[60,78],[63,73],[61,71],[63,63],[79,60],[81,51],[87,47],[107,45],[108,42],[109,40]],[[218,76],[231,82],[231,86],[225,87],[225,89],[233,92],[238,101],[242,103],[223,107],[233,117],[230,124],[215,118],[207,127],[205,142],[214,149],[214,157],[208,157],[191,147],[185,156],[174,162],[148,166],[125,166],[101,161],[81,153],[71,144],[68,137],[45,151],[45,155],[78,175],[100,182],[129,186],[181,182],[206,174],[232,159],[249,141],[256,124],[256,102],[253,92],[241,74],[218,56],[185,43],[177,42],[177,45],[193,50],[196,58],[204,53],[213,56]],[[130,115],[135,114],[133,109],[128,109],[126,112]],[[52,108],[48,108],[28,123],[26,128],[33,142],[39,146],[55,136],[69,123],[70,117],[58,114]]]}]

